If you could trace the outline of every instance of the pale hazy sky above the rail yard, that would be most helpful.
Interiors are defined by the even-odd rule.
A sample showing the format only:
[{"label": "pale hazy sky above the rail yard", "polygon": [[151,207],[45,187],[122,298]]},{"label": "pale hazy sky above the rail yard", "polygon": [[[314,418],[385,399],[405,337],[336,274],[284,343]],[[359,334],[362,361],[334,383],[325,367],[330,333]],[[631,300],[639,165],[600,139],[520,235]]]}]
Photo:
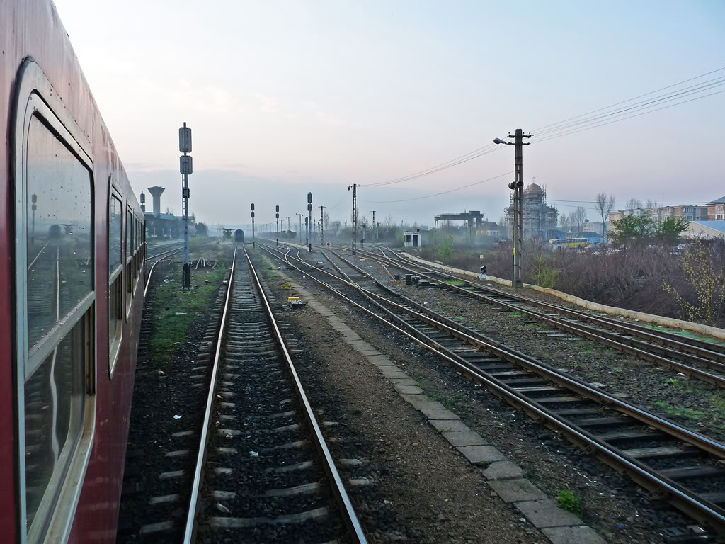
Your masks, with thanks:
[{"label": "pale hazy sky above the rail yard", "polygon": [[[178,127],[193,130],[191,210],[247,223],[328,205],[539,127],[725,67],[725,2],[56,0],[137,192],[181,213]],[[703,81],[725,76],[725,70]],[[700,81],[700,80],[698,80]],[[689,83],[697,83],[698,81]],[[711,92],[724,90],[713,88]],[[725,194],[725,93],[524,148],[550,203],[607,191],[664,202]],[[502,146],[500,146],[502,147]],[[502,147],[431,176],[359,189],[360,212],[496,221]],[[584,204],[593,207],[592,204]],[[150,199],[149,199],[150,207]],[[319,215],[319,210],[315,208]],[[589,218],[595,212],[589,210]]]}]

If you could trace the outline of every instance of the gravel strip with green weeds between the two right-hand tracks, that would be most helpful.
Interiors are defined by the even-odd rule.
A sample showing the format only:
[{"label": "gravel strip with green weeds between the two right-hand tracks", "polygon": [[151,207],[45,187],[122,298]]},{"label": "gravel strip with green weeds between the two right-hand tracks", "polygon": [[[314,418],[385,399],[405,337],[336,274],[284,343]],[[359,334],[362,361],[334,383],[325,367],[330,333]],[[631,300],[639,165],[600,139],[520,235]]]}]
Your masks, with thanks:
[{"label": "gravel strip with green weeds between the two right-hand tracks", "polygon": [[552,330],[550,326],[527,323],[533,320],[521,313],[502,311],[495,306],[457,296],[447,289],[419,289],[405,286],[403,282],[392,282],[381,265],[370,261],[356,264],[416,302],[424,303],[449,318],[457,318],[497,342],[510,345],[556,368],[566,368],[579,379],[603,384],[602,389],[608,392],[624,393],[628,395],[626,400],[629,402],[695,432],[715,440],[725,440],[724,390],[587,339],[548,337],[539,331]]}]

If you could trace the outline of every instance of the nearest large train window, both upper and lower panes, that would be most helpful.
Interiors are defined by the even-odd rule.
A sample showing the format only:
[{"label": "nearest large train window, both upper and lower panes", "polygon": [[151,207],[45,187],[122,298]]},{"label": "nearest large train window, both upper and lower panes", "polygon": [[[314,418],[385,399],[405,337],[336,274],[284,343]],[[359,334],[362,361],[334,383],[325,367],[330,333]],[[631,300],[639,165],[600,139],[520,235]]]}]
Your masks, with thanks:
[{"label": "nearest large train window, both upper and lower panes", "polygon": [[17,262],[27,266],[25,286],[16,286],[25,298],[17,319],[20,445],[27,537],[40,542],[75,461],[86,393],[94,388],[94,215],[86,165],[46,118],[33,113],[26,126],[16,191],[25,207]]}]

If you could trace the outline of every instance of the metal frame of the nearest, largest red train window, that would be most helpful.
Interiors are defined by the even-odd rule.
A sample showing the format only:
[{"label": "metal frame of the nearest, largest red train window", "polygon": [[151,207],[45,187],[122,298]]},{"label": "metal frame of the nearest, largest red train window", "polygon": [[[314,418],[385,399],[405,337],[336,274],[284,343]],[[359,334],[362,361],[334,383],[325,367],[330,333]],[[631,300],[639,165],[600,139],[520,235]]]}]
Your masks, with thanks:
[{"label": "metal frame of the nearest, largest red train window", "polygon": [[[93,163],[93,148],[83,130],[75,123],[70,112],[65,108],[62,100],[54,91],[48,79],[38,64],[31,58],[26,58],[17,73],[16,91],[12,104],[11,130],[10,130],[10,160],[14,186],[14,237],[17,240],[27,239],[28,221],[28,144],[30,143],[30,124],[33,118],[41,121],[42,125],[55,136],[78,163],[88,170],[89,204],[91,215],[90,250],[93,261],[91,270],[91,289],[88,294],[72,308],[51,330],[33,345],[29,352],[28,342],[28,286],[25,281],[28,265],[27,244],[17,244],[14,248],[15,271],[13,277],[15,292],[15,312],[13,321],[13,334],[15,345],[13,358],[16,427],[17,427],[17,485],[19,492],[18,507],[20,510],[20,544],[45,540],[58,540],[65,542],[70,535],[72,520],[78,507],[82,482],[86,477],[91,450],[96,432],[96,380],[97,380],[97,270],[96,270],[96,226],[94,222],[96,211],[96,191]],[[22,279],[22,280],[21,280]],[[79,417],[79,434],[74,438],[69,459],[59,474],[57,464],[51,474],[52,482],[59,479],[54,487],[54,501],[49,511],[46,500],[41,500],[38,514],[45,514],[41,519],[41,526],[33,523],[28,527],[28,495],[26,485],[25,466],[25,384],[26,366],[32,366],[33,358],[41,358],[44,353],[51,353],[65,341],[71,334],[76,334],[77,327],[83,331],[83,343],[80,349],[83,353],[83,409]],[[57,342],[56,342],[57,340]],[[39,534],[38,534],[39,533]]]}]

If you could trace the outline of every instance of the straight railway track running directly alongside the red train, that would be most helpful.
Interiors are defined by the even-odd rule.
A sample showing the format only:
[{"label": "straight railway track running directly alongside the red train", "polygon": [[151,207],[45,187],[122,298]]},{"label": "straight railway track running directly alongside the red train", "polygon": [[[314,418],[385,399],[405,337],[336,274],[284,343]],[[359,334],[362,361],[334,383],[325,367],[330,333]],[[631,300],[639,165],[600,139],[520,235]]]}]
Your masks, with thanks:
[{"label": "straight railway track running directly alongside the red train", "polygon": [[235,251],[183,542],[365,543],[274,305]]}]

